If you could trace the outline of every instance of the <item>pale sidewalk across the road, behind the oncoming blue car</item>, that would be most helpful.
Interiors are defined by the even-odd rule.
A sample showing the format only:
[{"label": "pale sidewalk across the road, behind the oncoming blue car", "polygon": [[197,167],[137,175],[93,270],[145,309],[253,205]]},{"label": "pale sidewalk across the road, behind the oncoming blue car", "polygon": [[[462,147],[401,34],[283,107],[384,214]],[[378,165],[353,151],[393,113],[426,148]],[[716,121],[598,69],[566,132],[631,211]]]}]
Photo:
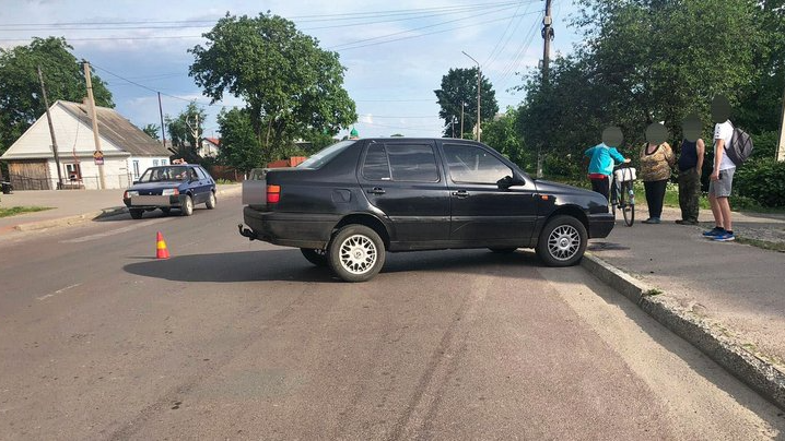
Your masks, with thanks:
[{"label": "pale sidewalk across the road, behind the oncoming blue car", "polygon": [[[127,213],[125,190],[28,190],[0,195],[0,207],[47,206],[52,210],[0,218],[0,237],[15,230],[36,230],[72,225]],[[236,194],[239,183],[219,184],[218,195]]]}]

